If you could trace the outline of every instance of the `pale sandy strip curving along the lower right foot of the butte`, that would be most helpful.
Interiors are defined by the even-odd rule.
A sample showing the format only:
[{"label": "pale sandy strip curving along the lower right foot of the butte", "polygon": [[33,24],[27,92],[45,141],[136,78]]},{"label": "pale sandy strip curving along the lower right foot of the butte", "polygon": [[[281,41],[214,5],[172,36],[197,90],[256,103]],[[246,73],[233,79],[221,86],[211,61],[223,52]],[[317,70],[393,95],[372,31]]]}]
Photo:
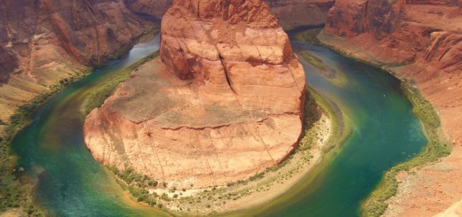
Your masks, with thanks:
[{"label": "pale sandy strip curving along the lower right foot of the butte", "polygon": [[[314,100],[310,97],[310,100]],[[310,126],[299,142],[299,149],[274,168],[255,174],[249,180],[207,189],[153,189],[160,197],[157,205],[179,215],[229,213],[272,201],[288,191],[323,159],[323,149],[333,133],[334,123],[327,109],[313,101],[307,121]],[[327,105],[323,105],[327,106]],[[313,111],[315,110],[315,112]]]}]

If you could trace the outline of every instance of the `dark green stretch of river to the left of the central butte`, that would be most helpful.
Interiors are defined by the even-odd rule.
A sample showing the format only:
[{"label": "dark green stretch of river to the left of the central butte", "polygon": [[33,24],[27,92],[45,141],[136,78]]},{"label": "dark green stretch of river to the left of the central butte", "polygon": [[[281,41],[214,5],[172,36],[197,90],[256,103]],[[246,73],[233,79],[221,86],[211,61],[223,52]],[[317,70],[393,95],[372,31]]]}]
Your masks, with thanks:
[{"label": "dark green stretch of river to the left of the central butte", "polygon": [[159,36],[137,44],[121,58],[109,61],[81,81],[53,96],[34,114],[28,127],[12,141],[20,157],[17,167],[35,177],[36,201],[50,215],[162,215],[154,208],[132,203],[84,144],[81,105],[89,89],[159,48]]}]

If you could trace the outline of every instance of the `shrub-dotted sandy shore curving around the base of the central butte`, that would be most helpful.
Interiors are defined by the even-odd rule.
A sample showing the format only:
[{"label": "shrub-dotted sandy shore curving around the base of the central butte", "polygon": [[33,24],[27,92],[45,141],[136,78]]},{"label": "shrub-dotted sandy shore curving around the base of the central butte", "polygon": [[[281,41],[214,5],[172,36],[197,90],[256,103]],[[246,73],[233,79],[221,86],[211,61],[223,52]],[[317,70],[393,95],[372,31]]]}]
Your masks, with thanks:
[{"label": "shrub-dotted sandy shore curving around the base of the central butte", "polygon": [[[330,153],[333,139],[337,139],[338,124],[341,117],[334,112],[325,98],[307,88],[305,104],[304,131],[296,145],[298,148],[275,167],[268,167],[263,172],[251,176],[247,180],[229,182],[227,186],[211,186],[202,189],[176,189],[159,182],[161,188],[139,188],[148,186],[145,182],[127,184],[120,174],[124,171],[109,171],[115,175],[117,182],[125,190],[131,191],[131,198],[143,204],[157,206],[173,215],[235,215],[252,208],[259,208],[274,201],[287,190],[297,186],[313,168]],[[343,135],[343,133],[342,133]],[[335,137],[335,138],[334,138]],[[337,141],[337,140],[335,140]],[[139,175],[139,174],[136,174]],[[136,190],[134,190],[136,189]],[[145,191],[146,193],[139,193]],[[133,195],[136,194],[136,195]],[[146,194],[146,195],[145,195]]]}]

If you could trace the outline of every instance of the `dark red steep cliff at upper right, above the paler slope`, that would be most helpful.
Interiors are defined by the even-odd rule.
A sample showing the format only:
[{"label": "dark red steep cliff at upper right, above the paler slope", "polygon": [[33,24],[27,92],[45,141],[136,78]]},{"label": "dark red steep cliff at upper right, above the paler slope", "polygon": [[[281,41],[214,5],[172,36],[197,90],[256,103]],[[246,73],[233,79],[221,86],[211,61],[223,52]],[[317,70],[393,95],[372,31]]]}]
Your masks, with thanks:
[{"label": "dark red steep cliff at upper right, above the paler slope", "polygon": [[457,1],[343,0],[329,12],[324,33],[359,45],[378,62],[422,62],[445,69],[460,67],[460,57],[434,53],[459,50],[461,20]]}]

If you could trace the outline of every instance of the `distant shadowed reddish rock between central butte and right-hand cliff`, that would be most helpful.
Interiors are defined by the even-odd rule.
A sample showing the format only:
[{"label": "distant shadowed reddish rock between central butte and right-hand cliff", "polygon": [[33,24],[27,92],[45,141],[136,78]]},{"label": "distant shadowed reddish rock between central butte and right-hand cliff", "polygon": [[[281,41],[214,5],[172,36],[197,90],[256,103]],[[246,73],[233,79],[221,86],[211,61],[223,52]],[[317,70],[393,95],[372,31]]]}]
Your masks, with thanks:
[{"label": "distant shadowed reddish rock between central butte and right-hand cliff", "polygon": [[285,30],[321,26],[335,0],[265,0]]}]

